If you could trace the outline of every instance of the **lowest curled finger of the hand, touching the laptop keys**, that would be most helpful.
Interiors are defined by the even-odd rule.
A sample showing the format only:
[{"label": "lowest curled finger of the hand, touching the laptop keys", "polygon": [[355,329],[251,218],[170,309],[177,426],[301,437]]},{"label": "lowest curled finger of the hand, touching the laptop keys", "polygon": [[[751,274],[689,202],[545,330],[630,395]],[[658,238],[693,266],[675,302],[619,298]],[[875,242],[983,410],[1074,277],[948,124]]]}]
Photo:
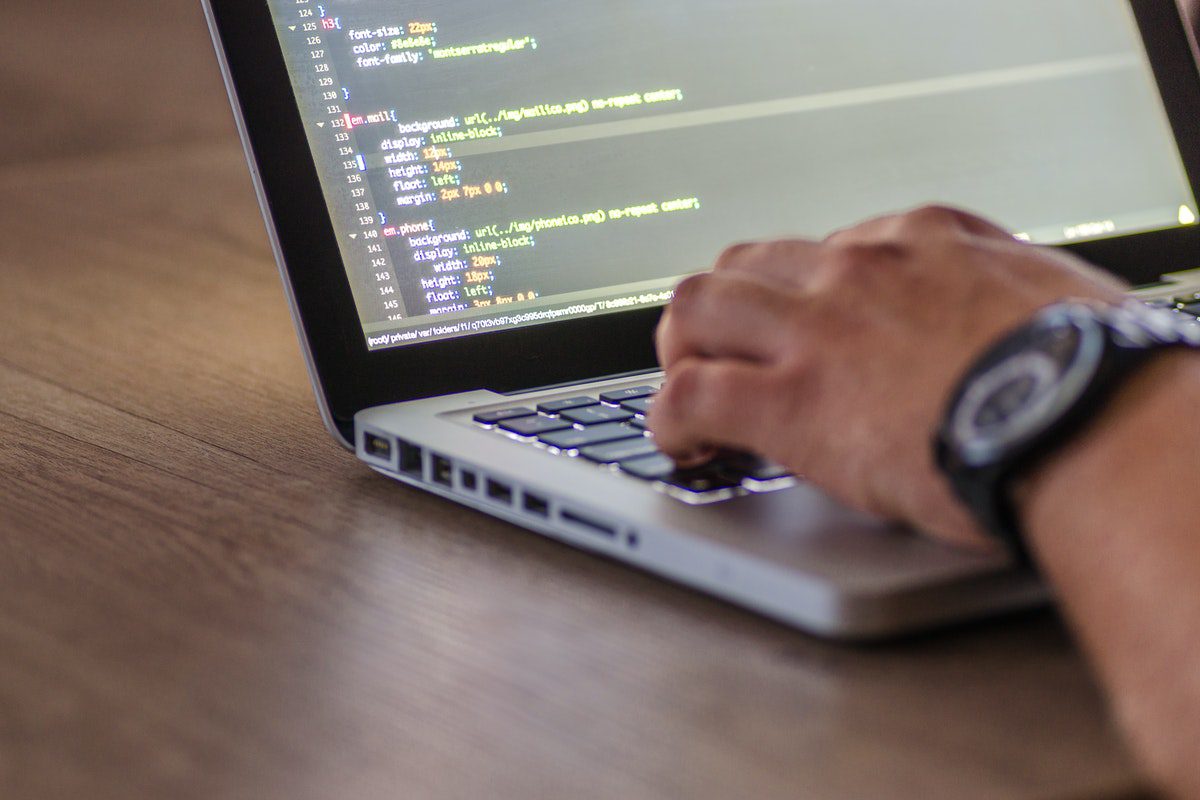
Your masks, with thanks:
[{"label": "lowest curled finger of the hand, touching the laptop keys", "polygon": [[662,452],[682,462],[713,449],[762,452],[779,387],[768,368],[728,359],[685,359],[650,407]]}]

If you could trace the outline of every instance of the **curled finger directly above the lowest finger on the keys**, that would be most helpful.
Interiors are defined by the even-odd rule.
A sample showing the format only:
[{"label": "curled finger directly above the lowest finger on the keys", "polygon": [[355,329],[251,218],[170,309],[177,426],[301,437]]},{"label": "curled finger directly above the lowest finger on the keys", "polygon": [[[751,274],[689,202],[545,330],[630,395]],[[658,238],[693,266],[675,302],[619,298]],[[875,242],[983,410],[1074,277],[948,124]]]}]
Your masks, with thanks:
[{"label": "curled finger directly above the lowest finger on the keys", "polygon": [[670,368],[690,356],[770,361],[787,347],[799,312],[793,293],[737,272],[690,277],[659,325],[659,363]]}]

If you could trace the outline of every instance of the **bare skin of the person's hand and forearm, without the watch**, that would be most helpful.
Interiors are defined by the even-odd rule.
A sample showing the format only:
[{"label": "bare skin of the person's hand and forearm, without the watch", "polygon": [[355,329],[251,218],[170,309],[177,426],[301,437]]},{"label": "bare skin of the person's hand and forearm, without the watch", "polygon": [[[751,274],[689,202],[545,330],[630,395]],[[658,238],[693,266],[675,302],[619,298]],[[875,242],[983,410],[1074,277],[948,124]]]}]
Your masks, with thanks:
[{"label": "bare skin of the person's hand and forearm, without the watch", "polygon": [[[680,284],[664,315],[650,428],[684,464],[754,451],[852,506],[995,547],[934,464],[952,390],[1038,309],[1121,302],[1123,288],[944,207],[822,242],[740,245]],[[1188,798],[1200,798],[1196,408],[1200,354],[1162,356],[1016,487],[1031,551],[1134,751]]]}]

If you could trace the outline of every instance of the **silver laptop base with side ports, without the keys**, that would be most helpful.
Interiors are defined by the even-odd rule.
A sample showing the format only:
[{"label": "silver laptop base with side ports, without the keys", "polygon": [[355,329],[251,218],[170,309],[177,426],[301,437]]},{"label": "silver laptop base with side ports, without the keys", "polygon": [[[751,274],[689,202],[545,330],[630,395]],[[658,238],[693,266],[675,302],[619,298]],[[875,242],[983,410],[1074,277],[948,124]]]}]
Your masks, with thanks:
[{"label": "silver laptop base with side ports, without the keys", "polygon": [[481,391],[367,409],[356,417],[358,456],[400,482],[826,638],[894,637],[1048,599],[1003,557],[928,541],[804,483],[692,506],[470,422],[481,408],[554,395]]}]

